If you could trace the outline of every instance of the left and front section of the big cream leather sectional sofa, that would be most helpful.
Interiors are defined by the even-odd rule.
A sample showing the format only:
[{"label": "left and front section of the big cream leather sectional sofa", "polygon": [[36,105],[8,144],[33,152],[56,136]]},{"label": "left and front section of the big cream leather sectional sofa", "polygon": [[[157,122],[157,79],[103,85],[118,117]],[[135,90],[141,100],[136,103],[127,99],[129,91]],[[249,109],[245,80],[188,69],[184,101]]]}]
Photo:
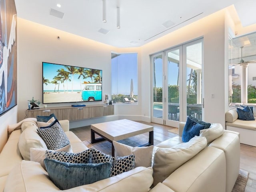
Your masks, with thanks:
[{"label": "left and front section of the big cream leather sectional sofa", "polygon": [[[82,141],[69,131],[69,121],[60,120],[60,125],[70,140],[74,153],[88,149]],[[22,129],[21,129],[22,128]],[[54,192],[60,191],[50,180],[48,173],[38,162],[23,160],[18,147],[22,130],[37,128],[36,118],[29,118],[13,130],[0,153],[0,191],[4,192]],[[39,135],[38,135],[39,136]],[[30,139],[31,142],[40,138]],[[30,142],[28,141],[28,142]],[[132,185],[131,185],[132,183]],[[123,174],[106,178],[98,182],[78,186],[64,191],[74,192],[147,192],[153,183],[152,168],[137,167]]]}]

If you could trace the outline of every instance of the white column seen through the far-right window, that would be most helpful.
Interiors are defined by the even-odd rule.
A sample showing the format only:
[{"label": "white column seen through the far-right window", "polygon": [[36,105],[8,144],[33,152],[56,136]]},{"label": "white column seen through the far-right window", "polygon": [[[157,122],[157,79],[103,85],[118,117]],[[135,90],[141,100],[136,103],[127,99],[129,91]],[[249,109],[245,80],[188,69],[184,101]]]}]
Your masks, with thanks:
[{"label": "white column seen through the far-right window", "polygon": [[241,103],[248,103],[248,63],[241,63]]}]

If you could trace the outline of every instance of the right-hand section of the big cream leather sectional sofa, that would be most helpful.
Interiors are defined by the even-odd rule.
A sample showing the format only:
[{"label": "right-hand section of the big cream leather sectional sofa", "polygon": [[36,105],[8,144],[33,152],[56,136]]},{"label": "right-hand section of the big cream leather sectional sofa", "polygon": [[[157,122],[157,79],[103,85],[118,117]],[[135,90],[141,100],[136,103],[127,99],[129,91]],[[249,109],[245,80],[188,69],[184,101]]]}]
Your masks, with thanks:
[{"label": "right-hand section of the big cream leather sectional sofa", "polygon": [[[189,150],[177,150],[177,146],[182,144],[184,126],[185,123],[180,122],[179,136],[170,138],[156,146],[161,151],[166,149],[166,153],[168,154],[164,156],[165,162],[168,162],[166,158],[173,158],[172,160],[175,163],[177,156],[184,156],[185,158],[194,153],[195,147]],[[208,130],[206,129],[204,132],[202,130],[200,131],[198,138],[200,137],[206,138],[206,146],[198,154],[174,170],[162,182],[155,182],[159,180],[159,175],[157,174],[159,167],[155,167],[153,164],[154,185],[156,186],[150,192],[232,191],[240,169],[239,133],[223,130],[221,124],[212,124]],[[174,148],[175,150],[170,152],[168,148]],[[157,163],[156,156],[158,150],[154,154],[154,163]],[[175,155],[175,153],[179,154]],[[164,168],[168,169],[168,166]]]}]

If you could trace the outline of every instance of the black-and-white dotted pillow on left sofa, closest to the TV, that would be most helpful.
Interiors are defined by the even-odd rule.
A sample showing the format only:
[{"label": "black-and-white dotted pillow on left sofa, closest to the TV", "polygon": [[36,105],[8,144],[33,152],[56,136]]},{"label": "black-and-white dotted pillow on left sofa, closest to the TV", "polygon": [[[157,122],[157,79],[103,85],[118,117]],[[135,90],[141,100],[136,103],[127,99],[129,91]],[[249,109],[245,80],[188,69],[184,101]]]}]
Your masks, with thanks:
[{"label": "black-and-white dotted pillow on left sofa, closest to the TV", "polygon": [[58,120],[55,120],[47,127],[37,128],[36,130],[49,150],[57,150],[70,144]]}]

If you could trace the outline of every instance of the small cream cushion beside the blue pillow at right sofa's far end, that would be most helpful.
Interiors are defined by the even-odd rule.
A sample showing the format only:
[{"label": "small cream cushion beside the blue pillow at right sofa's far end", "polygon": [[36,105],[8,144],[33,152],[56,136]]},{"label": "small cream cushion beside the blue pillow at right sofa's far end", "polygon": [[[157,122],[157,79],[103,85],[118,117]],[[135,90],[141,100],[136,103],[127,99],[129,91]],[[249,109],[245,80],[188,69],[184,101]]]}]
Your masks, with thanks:
[{"label": "small cream cushion beside the blue pillow at right sofa's far end", "polygon": [[212,123],[210,128],[200,130],[200,137],[205,137],[207,143],[212,142],[223,134],[224,130],[220,123]]}]

